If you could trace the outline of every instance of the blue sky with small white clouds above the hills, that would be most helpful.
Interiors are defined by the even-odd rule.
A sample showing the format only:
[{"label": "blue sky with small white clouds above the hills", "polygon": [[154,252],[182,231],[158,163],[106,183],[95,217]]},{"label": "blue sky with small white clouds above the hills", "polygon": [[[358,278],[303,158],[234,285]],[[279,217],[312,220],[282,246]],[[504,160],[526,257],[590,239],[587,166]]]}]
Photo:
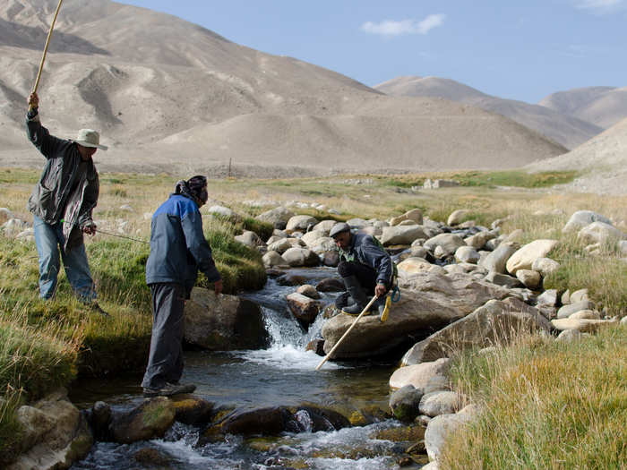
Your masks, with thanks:
[{"label": "blue sky with small white clouds above the hills", "polygon": [[627,86],[627,0],[122,1],[369,86],[436,76],[529,103]]}]

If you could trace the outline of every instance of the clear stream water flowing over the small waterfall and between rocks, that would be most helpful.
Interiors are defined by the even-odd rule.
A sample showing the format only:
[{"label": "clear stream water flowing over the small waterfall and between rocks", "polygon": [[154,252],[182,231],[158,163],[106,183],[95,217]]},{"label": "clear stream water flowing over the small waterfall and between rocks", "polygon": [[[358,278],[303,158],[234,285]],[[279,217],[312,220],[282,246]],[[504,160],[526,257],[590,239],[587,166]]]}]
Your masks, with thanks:
[{"label": "clear stream water flowing over the small waterfall and between rocks", "polygon": [[[335,275],[334,269],[293,269],[315,285]],[[185,352],[182,381],[197,386],[195,395],[216,406],[238,409],[265,406],[312,404],[329,406],[348,415],[365,406],[387,409],[388,380],[394,361],[327,362],[315,371],[322,357],[305,351],[307,343],[320,337],[322,315],[304,331],[288,315],[285,296],[295,287],[279,286],[269,279],[261,291],[242,295],[262,305],[271,346],[263,350],[228,353]],[[335,295],[322,294],[331,303]],[[350,337],[346,339],[350,340]],[[106,401],[115,409],[127,410],[142,402],[138,383],[141,377],[121,380],[86,380],[73,391],[77,406],[90,407]],[[73,465],[79,469],[136,469],[142,466],[133,457],[140,449],[151,448],[167,460],[159,468],[192,469],[350,469],[399,468],[396,463],[411,442],[376,439],[377,432],[399,426],[384,420],[340,431],[311,432],[309,416],[298,416],[305,432],[284,433],[276,438],[228,437],[224,442],[198,445],[199,429],[176,423],[163,439],[120,445],[98,442],[90,455]],[[311,428],[309,428],[311,430]],[[417,466],[415,466],[416,468]]]}]

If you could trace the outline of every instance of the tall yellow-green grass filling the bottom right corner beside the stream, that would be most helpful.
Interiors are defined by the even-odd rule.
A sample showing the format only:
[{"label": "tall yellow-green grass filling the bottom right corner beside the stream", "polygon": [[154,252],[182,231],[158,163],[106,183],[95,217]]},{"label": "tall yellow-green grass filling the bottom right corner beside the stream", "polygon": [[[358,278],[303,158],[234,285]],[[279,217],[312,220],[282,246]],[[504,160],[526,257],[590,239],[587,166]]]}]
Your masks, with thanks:
[{"label": "tall yellow-green grass filling the bottom right corner beside the stream", "polygon": [[451,437],[440,468],[627,468],[625,358],[625,327],[455,357],[453,380],[484,412]]}]

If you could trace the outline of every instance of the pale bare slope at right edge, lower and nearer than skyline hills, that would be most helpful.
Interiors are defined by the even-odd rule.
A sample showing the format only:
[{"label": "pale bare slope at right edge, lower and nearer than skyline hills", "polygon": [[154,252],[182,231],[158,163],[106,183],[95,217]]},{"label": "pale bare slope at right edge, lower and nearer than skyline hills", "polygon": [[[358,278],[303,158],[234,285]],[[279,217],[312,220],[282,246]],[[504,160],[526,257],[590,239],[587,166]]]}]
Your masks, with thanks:
[{"label": "pale bare slope at right edge, lower and nearer than skyline hills", "polygon": [[627,118],[575,150],[528,165],[532,172],[577,170],[583,175],[570,184],[582,192],[627,194]]}]

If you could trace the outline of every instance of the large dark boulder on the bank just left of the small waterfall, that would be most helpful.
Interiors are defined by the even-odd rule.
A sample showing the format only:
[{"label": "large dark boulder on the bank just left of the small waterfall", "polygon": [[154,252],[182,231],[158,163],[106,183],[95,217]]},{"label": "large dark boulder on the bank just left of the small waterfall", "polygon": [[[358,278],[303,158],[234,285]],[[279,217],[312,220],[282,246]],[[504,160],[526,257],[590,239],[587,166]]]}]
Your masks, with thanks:
[{"label": "large dark boulder on the bank just left of the small waterfall", "polygon": [[210,351],[232,351],[268,346],[269,335],[256,303],[194,287],[185,303],[185,341]]}]

